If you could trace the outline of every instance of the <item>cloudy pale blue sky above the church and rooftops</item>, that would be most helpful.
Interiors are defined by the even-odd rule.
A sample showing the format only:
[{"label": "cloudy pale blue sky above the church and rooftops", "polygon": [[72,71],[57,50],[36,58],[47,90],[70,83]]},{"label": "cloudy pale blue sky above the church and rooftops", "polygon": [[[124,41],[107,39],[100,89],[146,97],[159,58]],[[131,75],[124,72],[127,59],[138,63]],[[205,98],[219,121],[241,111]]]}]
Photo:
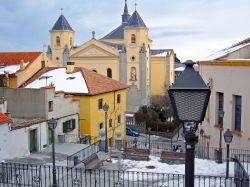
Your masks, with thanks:
[{"label": "cloudy pale blue sky above the church and rooftops", "polygon": [[[250,37],[250,0],[136,0],[153,48],[182,60],[202,59]],[[132,14],[135,0],[128,0]],[[61,14],[76,31],[75,45],[103,37],[121,23],[124,0],[0,0],[0,51],[42,51]]]}]

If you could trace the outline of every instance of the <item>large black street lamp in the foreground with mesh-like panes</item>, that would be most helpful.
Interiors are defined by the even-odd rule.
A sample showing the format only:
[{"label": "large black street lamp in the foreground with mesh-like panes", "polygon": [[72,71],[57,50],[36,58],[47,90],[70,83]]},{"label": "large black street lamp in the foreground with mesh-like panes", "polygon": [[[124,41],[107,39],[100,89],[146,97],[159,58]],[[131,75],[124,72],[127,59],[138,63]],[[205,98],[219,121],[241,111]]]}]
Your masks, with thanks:
[{"label": "large black street lamp in the foreground with mesh-like panes", "polygon": [[202,80],[188,60],[183,73],[169,88],[168,93],[175,117],[183,122],[186,143],[185,186],[194,186],[194,149],[198,142],[196,131],[198,124],[204,120],[211,90]]}]

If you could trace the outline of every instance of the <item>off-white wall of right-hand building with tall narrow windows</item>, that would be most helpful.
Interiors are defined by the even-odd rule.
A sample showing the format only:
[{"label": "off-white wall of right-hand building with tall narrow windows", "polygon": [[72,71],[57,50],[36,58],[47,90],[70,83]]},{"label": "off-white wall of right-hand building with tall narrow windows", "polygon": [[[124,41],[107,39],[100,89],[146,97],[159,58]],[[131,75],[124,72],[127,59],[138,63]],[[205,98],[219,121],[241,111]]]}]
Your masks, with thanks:
[{"label": "off-white wall of right-hand building with tall narrow windows", "polygon": [[[233,133],[234,137],[230,147],[250,150],[250,67],[200,65],[199,71],[206,83],[209,78],[212,78],[210,102],[201,126],[205,130],[205,134],[211,136],[210,145],[219,146],[219,128],[216,127],[218,112],[216,111],[216,93],[222,92],[224,93],[225,112],[223,133],[228,128],[233,130],[233,95],[239,95],[242,97],[241,132],[240,134]],[[226,147],[224,137],[222,137],[222,147]]]}]

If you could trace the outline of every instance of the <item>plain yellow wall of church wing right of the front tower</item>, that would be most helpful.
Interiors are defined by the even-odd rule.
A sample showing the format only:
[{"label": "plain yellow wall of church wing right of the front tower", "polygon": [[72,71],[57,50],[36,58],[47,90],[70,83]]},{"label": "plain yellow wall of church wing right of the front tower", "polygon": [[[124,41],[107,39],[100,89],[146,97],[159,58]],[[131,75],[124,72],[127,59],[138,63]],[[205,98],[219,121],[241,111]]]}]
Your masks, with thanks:
[{"label": "plain yellow wall of church wing right of the front tower", "polygon": [[151,58],[151,95],[166,95],[166,57]]}]

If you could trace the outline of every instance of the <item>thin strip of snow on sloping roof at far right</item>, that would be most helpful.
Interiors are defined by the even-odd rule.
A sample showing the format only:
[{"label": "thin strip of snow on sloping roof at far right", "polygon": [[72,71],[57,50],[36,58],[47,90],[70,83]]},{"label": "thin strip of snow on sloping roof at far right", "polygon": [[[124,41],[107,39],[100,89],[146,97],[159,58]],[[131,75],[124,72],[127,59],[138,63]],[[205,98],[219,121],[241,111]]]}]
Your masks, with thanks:
[{"label": "thin strip of snow on sloping roof at far right", "polygon": [[216,53],[214,53],[214,54],[212,54],[212,55],[209,55],[209,56],[206,57],[204,60],[217,60],[217,59],[219,59],[219,58],[221,58],[221,57],[226,56],[226,55],[229,54],[229,53],[232,53],[232,52],[234,52],[234,51],[237,51],[237,50],[239,50],[239,49],[242,49],[243,47],[248,46],[248,45],[250,45],[250,42],[241,43],[241,44],[239,44],[239,45],[233,45],[233,46],[231,46],[231,47],[228,47],[228,48],[225,48],[225,49],[223,49],[223,50],[221,50],[221,51],[218,51],[218,52],[216,52]]}]

